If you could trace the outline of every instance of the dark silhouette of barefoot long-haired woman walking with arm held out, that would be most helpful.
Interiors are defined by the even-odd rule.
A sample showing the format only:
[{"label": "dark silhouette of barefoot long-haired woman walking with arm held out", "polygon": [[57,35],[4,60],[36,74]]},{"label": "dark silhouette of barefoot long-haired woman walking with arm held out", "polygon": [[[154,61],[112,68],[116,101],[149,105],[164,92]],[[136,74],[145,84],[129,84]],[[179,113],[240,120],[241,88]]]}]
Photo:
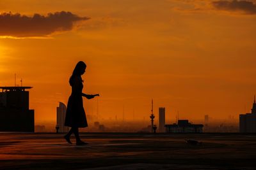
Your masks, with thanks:
[{"label": "dark silhouette of barefoot long-haired woman walking with arm held out", "polygon": [[79,131],[78,131],[79,127],[88,127],[86,115],[83,107],[83,97],[86,97],[87,99],[92,99],[95,96],[99,96],[99,94],[90,95],[90,94],[84,94],[82,92],[83,80],[81,78],[81,75],[84,74],[85,69],[86,69],[86,64],[83,61],[79,61],[76,64],[76,67],[72,73],[72,76],[70,76],[70,79],[69,79],[69,84],[72,87],[72,93],[71,93],[71,96],[68,98],[65,126],[71,127],[71,129],[64,136],[64,138],[68,143],[72,144],[70,141],[70,135],[74,133],[76,136],[76,145],[88,144],[81,141],[79,137]]}]

